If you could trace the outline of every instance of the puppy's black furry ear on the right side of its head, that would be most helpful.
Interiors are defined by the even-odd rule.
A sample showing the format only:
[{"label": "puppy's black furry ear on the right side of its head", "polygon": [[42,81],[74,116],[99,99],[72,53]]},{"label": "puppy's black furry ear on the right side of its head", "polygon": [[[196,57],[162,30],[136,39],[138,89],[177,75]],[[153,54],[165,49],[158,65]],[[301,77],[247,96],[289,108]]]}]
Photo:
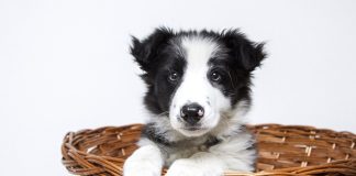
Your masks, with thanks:
[{"label": "puppy's black furry ear on the right side of its head", "polygon": [[230,54],[237,59],[240,66],[245,70],[253,72],[260,66],[262,61],[266,57],[264,43],[254,43],[237,30],[225,31],[222,36]]}]

